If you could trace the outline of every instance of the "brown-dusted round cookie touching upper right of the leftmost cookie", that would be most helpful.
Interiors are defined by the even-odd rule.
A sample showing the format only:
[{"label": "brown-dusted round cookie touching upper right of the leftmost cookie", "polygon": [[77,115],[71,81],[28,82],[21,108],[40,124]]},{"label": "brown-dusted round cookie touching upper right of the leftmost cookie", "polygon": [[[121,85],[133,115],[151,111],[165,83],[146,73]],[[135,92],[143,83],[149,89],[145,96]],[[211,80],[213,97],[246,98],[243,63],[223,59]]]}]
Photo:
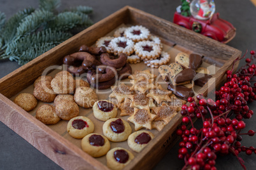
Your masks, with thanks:
[{"label": "brown-dusted round cookie touching upper right of the leftmost cookie", "polygon": [[52,90],[50,82],[37,83],[34,87],[33,95],[40,101],[50,103],[52,102],[56,94]]}]

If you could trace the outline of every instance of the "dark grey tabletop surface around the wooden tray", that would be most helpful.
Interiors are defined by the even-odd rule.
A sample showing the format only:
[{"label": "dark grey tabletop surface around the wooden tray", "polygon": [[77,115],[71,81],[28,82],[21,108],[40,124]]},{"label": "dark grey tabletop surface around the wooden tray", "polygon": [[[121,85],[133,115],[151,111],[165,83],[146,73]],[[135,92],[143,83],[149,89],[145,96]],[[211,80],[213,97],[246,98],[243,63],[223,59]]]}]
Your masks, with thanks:
[{"label": "dark grey tabletop surface around the wooden tray", "polygon": [[[239,0],[218,0],[215,1],[220,17],[231,22],[237,29],[236,37],[228,43],[229,46],[237,48],[245,53],[246,49],[256,49],[256,9],[249,1]],[[176,7],[180,4],[179,0],[159,0],[159,1],[138,1],[138,0],[62,0],[60,10],[69,8],[70,6],[87,5],[94,8],[92,20],[98,22],[111,13],[117,11],[125,5],[130,5],[140,10],[159,16],[166,20],[173,20],[173,13]],[[22,10],[27,6],[38,6],[38,1],[34,0],[0,0],[0,11],[6,13],[10,18],[11,15],[18,10]],[[0,33],[1,34],[1,33]],[[240,66],[245,62],[241,62]],[[0,61],[0,78],[9,74],[19,66],[15,62]],[[250,109],[256,111],[255,103],[249,104]],[[256,118],[253,115],[252,119],[246,120],[245,132],[249,129],[256,130]],[[197,126],[200,122],[197,121]],[[255,136],[243,138],[242,145],[255,146]],[[183,161],[178,160],[178,143],[172,148],[168,154],[154,167],[154,169],[181,169]],[[245,160],[247,169],[255,169],[256,155],[251,156],[241,153],[240,156]],[[218,169],[242,169],[238,160],[233,155],[218,157]],[[10,128],[0,122],[0,169],[61,169],[52,160],[41,154],[36,148],[32,147],[27,141],[18,136]]]}]

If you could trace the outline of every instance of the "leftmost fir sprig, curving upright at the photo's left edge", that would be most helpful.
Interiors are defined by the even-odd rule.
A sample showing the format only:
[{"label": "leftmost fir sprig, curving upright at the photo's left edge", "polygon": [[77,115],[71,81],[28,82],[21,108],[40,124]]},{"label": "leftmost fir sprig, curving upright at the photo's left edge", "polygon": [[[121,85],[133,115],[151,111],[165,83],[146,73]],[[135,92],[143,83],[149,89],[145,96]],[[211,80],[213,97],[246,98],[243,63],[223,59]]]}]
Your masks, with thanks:
[{"label": "leftmost fir sprig, curving upright at the photo's left edge", "polygon": [[16,29],[22,19],[24,19],[26,16],[31,15],[31,13],[34,12],[34,8],[26,8],[25,10],[19,11],[17,14],[11,16],[11,18],[6,22],[6,25],[4,25],[3,28],[3,39],[4,43],[10,42],[13,37],[16,34]]}]

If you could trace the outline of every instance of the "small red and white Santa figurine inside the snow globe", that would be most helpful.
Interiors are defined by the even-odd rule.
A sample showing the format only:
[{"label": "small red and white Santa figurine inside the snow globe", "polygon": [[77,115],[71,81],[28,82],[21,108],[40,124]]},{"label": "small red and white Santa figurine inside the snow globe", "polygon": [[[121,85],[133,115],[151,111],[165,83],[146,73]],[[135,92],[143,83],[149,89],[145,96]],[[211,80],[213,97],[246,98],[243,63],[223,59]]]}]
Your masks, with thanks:
[{"label": "small red and white Santa figurine inside the snow globe", "polygon": [[211,16],[211,4],[207,0],[200,0],[200,9],[196,15],[199,20],[208,20]]}]

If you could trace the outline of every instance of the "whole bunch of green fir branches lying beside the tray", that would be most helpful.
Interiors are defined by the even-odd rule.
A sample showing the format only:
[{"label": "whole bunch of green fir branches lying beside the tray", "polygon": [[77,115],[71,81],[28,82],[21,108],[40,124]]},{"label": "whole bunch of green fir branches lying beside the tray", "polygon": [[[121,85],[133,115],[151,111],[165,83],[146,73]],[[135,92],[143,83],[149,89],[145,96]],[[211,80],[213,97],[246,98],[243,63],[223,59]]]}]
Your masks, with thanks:
[{"label": "whole bunch of green fir branches lying beside the tray", "polygon": [[[27,8],[11,16],[0,12],[0,60],[9,58],[19,65],[33,60],[66,41],[77,30],[92,25],[89,6],[77,6],[57,13],[60,0],[39,0],[39,9]],[[75,31],[74,31],[75,30]]]}]

